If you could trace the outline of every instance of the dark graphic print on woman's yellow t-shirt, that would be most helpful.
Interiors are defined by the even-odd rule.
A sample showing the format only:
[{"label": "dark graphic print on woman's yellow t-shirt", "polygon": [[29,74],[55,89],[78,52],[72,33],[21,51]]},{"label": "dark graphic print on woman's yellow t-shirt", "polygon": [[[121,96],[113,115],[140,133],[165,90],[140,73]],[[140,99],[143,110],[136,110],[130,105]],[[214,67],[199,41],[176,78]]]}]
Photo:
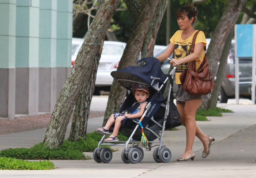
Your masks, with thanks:
[{"label": "dark graphic print on woman's yellow t-shirt", "polygon": [[[191,47],[192,43],[180,43],[180,42],[175,42],[174,44],[174,58],[175,59],[180,59],[183,57],[186,57],[190,54],[191,52]],[[176,76],[176,83],[180,83],[180,74],[188,68],[188,63],[178,65],[175,71],[175,76]]]}]

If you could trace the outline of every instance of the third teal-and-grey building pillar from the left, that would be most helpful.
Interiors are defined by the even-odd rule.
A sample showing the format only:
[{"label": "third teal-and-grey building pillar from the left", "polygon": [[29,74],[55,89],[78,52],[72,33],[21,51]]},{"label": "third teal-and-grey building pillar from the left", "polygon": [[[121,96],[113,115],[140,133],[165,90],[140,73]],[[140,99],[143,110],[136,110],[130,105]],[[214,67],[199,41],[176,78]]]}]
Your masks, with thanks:
[{"label": "third teal-and-grey building pillar from the left", "polygon": [[38,111],[49,113],[56,103],[57,0],[40,1],[39,19]]}]

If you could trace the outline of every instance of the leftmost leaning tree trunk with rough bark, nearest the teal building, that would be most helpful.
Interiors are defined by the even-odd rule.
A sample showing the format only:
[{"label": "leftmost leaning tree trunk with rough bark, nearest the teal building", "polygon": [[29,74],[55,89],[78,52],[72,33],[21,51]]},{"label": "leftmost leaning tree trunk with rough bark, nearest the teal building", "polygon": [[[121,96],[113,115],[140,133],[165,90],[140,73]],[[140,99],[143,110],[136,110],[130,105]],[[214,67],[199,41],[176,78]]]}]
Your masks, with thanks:
[{"label": "leftmost leaning tree trunk with rough bark, nearest the teal building", "polygon": [[[63,143],[69,118],[78,98],[79,91],[84,82],[87,82],[85,80],[91,79],[93,80],[91,85],[95,84],[95,76],[102,52],[101,46],[103,45],[106,30],[110,24],[114,10],[119,2],[120,0],[105,0],[99,5],[98,12],[84,37],[84,43],[78,53],[76,62],[61,89],[54,107],[44,138],[44,144],[49,148],[60,146]],[[94,78],[91,76],[94,76]],[[93,88],[88,85],[87,87]],[[89,90],[85,89],[85,91]],[[89,91],[90,97],[92,93],[93,91]],[[85,103],[90,103],[90,97],[89,101],[85,101]]]}]

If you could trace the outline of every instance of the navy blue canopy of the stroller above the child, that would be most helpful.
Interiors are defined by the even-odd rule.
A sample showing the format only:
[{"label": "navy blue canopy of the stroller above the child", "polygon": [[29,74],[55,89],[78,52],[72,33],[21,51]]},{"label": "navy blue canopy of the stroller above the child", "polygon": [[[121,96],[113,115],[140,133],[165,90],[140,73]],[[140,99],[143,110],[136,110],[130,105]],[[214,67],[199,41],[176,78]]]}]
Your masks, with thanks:
[{"label": "navy blue canopy of the stroller above the child", "polygon": [[131,90],[135,83],[144,83],[158,90],[166,79],[160,61],[154,57],[143,58],[135,65],[111,72],[111,75],[128,90]]}]

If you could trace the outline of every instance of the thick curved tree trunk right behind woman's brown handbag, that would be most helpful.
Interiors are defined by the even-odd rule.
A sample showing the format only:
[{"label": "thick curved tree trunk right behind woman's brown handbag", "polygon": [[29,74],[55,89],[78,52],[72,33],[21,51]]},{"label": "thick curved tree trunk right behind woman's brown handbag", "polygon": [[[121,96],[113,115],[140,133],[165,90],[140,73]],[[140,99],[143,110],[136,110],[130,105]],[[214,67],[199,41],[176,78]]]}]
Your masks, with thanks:
[{"label": "thick curved tree trunk right behind woman's brown handbag", "polygon": [[[227,36],[234,27],[237,17],[246,1],[247,0],[229,0],[221,19],[214,30],[210,45],[207,49],[207,58],[213,77],[216,76],[217,64],[222,56]],[[217,80],[219,79],[217,78]],[[200,108],[208,109],[208,102],[209,99],[203,99]]]}]

